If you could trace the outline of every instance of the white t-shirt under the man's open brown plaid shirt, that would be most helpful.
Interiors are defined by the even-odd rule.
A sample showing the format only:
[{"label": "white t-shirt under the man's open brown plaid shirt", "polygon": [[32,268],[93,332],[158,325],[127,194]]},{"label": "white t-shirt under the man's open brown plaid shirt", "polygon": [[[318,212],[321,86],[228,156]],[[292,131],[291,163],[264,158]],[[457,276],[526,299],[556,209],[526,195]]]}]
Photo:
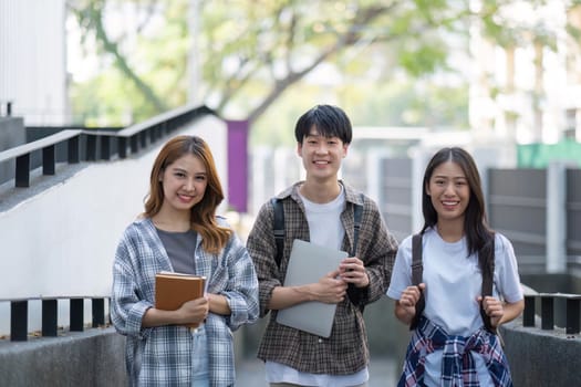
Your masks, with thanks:
[{"label": "white t-shirt under the man's open brown plaid shirt", "polygon": [[[311,242],[340,250],[345,236],[345,229],[341,223],[341,212],[345,206],[343,186],[341,186],[341,194],[328,203],[319,205],[307,200],[303,196],[301,199],[307,211]],[[367,367],[353,375],[309,374],[270,360],[266,362],[266,374],[268,383],[284,381],[302,386],[356,386],[369,379]]]}]

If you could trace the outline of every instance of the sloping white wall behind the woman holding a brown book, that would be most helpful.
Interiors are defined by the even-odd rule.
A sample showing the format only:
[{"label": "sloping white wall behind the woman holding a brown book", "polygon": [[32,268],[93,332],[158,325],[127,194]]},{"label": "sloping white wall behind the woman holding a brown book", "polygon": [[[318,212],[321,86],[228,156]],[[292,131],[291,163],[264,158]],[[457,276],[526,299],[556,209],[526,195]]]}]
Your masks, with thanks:
[{"label": "sloping white wall behind the woman holding a brown book", "polygon": [[[226,130],[222,121],[208,115],[175,134],[204,137],[227,181]],[[164,143],[138,157],[65,167],[74,175],[58,170],[50,187],[27,188],[25,200],[10,208],[10,200],[0,201],[0,299],[108,295],[118,239],[143,211],[153,159]],[[66,326],[68,303],[62,304],[59,324]],[[29,307],[29,331],[40,328],[38,306]],[[10,304],[0,302],[0,335],[9,333],[9,316]]]}]

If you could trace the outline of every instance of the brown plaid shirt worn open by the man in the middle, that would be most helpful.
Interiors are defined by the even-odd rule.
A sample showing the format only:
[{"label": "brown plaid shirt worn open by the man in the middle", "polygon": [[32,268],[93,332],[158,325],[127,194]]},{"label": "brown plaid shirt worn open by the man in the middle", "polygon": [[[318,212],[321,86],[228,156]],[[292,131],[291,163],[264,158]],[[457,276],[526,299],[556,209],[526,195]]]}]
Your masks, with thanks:
[{"label": "brown plaid shirt worn open by the man in the middle", "polygon": [[[343,182],[341,182],[343,184]],[[387,289],[397,250],[397,241],[387,232],[377,206],[373,200],[345,188],[345,208],[341,222],[345,229],[342,250],[353,250],[353,206],[363,205],[356,255],[361,259],[370,278],[370,285],[357,290],[357,305],[345,297],[338,304],[335,321],[329,338],[319,337],[276,322],[277,311],[269,311],[274,286],[281,286],[294,239],[310,240],[304,205],[299,197],[299,186],[288,188],[278,198],[284,208],[284,251],[280,268],[274,261],[277,245],[273,236],[273,208],[267,202],[260,209],[250,231],[247,248],[255,262],[260,283],[260,315],[270,313],[258,357],[288,365],[311,374],[351,375],[369,363],[367,334],[357,305],[378,300]]]}]

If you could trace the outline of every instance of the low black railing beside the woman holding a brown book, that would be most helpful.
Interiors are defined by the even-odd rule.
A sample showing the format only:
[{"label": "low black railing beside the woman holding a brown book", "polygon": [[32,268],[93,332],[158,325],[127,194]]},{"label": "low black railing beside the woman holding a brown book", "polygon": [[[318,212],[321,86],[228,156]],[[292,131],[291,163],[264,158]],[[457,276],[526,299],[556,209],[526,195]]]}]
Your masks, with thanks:
[{"label": "low black railing beside the woman holding a brown book", "polygon": [[84,302],[91,300],[92,305],[92,327],[104,326],[108,318],[105,318],[105,301],[110,296],[39,296],[15,300],[0,300],[10,303],[10,341],[25,342],[29,337],[29,302],[41,301],[42,303],[42,328],[41,335],[56,337],[59,331],[59,301],[69,301],[69,331],[82,332],[85,328]]}]

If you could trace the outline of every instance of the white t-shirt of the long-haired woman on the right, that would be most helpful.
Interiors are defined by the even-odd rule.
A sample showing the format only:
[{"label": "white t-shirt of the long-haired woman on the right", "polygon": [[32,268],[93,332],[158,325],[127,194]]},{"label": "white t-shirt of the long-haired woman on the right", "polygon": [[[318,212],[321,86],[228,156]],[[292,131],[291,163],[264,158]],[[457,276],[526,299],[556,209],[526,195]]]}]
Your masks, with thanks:
[{"label": "white t-shirt of the long-haired woman on the right", "polygon": [[[426,284],[424,315],[439,325],[449,335],[468,337],[483,326],[480,305],[483,276],[477,254],[468,255],[466,239],[449,243],[434,229],[428,229],[422,239],[423,282]],[[412,236],[400,244],[387,296],[400,300],[402,292],[412,285]],[[522,287],[518,275],[517,259],[512,244],[502,234],[495,239],[495,275],[492,293],[507,302],[522,300]],[[491,384],[481,357],[473,353],[483,386]],[[442,351],[426,356],[426,385],[439,385]]]}]

